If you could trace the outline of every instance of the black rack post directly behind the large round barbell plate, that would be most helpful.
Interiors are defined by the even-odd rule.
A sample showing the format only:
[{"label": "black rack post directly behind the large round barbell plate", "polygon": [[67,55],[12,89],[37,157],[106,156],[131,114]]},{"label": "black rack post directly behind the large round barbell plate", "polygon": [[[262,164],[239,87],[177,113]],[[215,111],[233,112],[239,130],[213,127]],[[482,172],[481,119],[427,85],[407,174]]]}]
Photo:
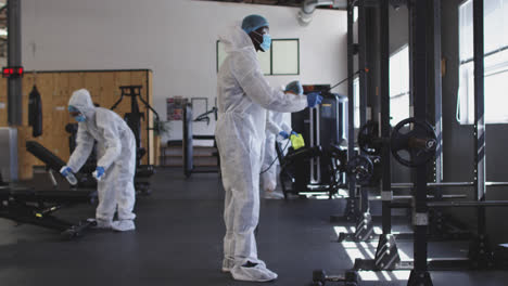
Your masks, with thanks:
[{"label": "black rack post directly behind the large round barbell plate", "polygon": [[[427,24],[428,1],[414,0],[410,3],[409,15],[411,17],[412,44],[412,82],[415,99],[415,117],[418,121],[427,120],[427,94],[428,66],[427,66]],[[415,265],[411,270],[408,286],[430,286],[431,276],[427,264],[427,227],[429,225],[429,211],[427,207],[427,165],[419,166],[415,172],[415,209],[414,209],[414,259]]]}]

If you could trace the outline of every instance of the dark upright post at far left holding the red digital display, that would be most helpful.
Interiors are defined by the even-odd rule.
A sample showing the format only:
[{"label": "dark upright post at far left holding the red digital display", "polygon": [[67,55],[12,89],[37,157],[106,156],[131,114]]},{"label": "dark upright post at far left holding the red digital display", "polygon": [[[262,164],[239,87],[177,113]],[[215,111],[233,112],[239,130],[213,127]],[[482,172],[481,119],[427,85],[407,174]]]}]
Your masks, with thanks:
[{"label": "dark upright post at far left holding the red digital display", "polygon": [[[8,1],[8,66],[22,66],[21,1]],[[22,78],[8,79],[8,121],[10,126],[23,123]]]}]

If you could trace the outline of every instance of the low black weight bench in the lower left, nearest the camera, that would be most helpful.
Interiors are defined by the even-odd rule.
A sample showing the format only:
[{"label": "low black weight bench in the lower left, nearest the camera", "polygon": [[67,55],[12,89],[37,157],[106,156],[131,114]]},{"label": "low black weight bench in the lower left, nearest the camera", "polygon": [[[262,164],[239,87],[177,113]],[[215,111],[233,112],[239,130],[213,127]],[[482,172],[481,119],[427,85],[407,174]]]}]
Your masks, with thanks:
[{"label": "low black weight bench in the lower left, nearest the camera", "polygon": [[71,239],[81,236],[96,222],[72,223],[54,217],[53,212],[78,204],[91,204],[96,198],[96,191],[34,191],[5,186],[0,188],[0,218],[52,229]]}]

